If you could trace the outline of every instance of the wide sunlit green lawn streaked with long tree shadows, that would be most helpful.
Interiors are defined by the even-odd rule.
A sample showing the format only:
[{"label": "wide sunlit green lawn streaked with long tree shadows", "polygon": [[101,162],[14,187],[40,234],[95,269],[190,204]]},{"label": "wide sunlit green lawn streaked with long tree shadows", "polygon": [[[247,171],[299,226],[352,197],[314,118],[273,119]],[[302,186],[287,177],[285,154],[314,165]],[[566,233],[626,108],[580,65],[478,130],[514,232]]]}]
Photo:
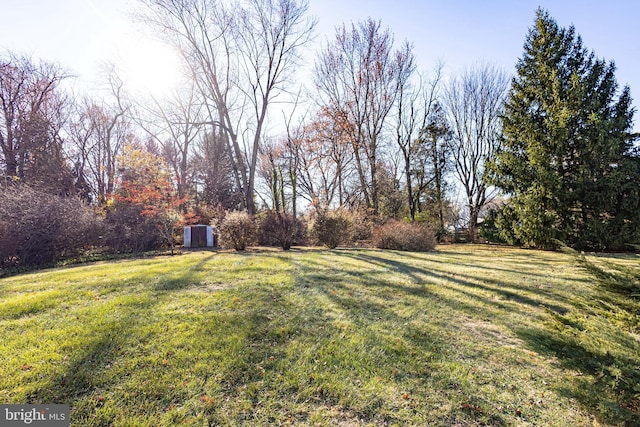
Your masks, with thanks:
[{"label": "wide sunlit green lawn streaked with long tree shadows", "polygon": [[640,425],[640,258],[191,252],[0,279],[0,403],[74,426]]}]

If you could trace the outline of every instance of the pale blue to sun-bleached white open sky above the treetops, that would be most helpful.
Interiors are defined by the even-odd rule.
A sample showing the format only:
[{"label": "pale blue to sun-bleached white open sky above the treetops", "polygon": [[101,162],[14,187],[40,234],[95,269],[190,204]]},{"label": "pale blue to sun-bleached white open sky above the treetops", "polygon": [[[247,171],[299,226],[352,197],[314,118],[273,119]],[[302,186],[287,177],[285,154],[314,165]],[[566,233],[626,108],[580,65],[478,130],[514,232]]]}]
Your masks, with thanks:
[{"label": "pale blue to sun-bleached white open sky above the treetops", "polygon": [[[124,64],[133,84],[149,90],[167,86],[177,78],[176,59],[131,21],[128,12],[135,5],[135,0],[0,0],[0,53],[11,50],[57,62],[81,88],[104,81],[106,61]],[[445,76],[480,62],[513,73],[539,6],[559,25],[573,24],[598,57],[615,61],[618,83],[631,87],[637,108],[640,2],[633,0],[309,0],[318,20],[309,52],[343,23],[371,17],[381,20],[398,44],[413,43],[424,72],[443,61]]]}]

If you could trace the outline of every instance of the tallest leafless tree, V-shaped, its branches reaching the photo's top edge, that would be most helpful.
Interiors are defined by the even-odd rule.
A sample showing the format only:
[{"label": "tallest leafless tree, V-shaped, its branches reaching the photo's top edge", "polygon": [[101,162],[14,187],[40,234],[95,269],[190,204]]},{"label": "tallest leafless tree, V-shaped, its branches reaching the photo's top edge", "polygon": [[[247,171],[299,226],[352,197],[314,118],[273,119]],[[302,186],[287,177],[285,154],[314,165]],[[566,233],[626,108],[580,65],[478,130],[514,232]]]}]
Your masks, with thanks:
[{"label": "tallest leafless tree, V-shaped, its branches reaching the photo's top edge", "polygon": [[185,58],[208,111],[229,144],[245,207],[253,213],[258,150],[269,106],[287,89],[315,21],[306,0],[142,0],[142,19]]}]

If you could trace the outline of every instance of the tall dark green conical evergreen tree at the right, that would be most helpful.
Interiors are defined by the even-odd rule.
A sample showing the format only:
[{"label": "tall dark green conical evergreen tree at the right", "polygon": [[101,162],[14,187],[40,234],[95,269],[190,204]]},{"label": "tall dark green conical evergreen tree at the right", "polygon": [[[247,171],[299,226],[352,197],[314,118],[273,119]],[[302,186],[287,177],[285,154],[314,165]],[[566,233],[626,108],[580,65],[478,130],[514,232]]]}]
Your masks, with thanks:
[{"label": "tall dark green conical evergreen tree at the right", "polygon": [[547,248],[556,239],[594,249],[636,240],[634,109],[614,63],[538,9],[516,70],[490,165],[490,181],[511,196],[498,220],[503,236]]}]

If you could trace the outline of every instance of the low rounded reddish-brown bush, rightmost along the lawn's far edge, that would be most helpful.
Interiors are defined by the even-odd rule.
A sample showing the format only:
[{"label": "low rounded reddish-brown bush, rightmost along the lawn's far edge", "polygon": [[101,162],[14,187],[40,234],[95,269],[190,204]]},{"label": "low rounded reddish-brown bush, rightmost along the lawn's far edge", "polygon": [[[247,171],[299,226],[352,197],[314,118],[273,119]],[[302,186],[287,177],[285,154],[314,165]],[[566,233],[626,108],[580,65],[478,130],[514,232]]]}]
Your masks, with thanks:
[{"label": "low rounded reddish-brown bush, rightmost along the lawn's far edge", "polygon": [[428,252],[436,247],[436,236],[428,225],[390,221],[374,230],[373,243],[380,249]]}]

